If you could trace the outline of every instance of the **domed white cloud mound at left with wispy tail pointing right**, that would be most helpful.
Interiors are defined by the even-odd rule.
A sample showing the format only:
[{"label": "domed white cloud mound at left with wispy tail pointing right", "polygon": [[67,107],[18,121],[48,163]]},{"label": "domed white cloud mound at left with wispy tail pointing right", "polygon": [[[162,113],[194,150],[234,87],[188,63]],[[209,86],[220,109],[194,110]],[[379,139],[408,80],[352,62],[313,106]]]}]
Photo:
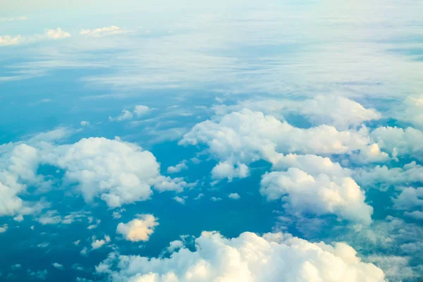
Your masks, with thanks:
[{"label": "domed white cloud mound at left with wispy tail pointing right", "polygon": [[188,183],[159,173],[151,152],[137,145],[106,138],[82,139],[73,145],[46,149],[43,161],[66,171],[68,183],[77,183],[88,202],[100,197],[109,207],[148,200],[152,185],[160,190],[182,190]]}]

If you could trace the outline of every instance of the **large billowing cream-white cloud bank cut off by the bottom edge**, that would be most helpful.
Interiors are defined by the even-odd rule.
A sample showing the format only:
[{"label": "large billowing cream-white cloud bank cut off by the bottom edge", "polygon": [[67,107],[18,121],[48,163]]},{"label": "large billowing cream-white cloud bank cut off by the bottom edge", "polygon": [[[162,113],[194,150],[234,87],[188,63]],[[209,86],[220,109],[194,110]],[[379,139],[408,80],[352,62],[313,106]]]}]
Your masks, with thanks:
[{"label": "large billowing cream-white cloud bank cut off by the bottom edge", "polygon": [[282,233],[243,233],[229,240],[203,232],[195,247],[194,252],[183,247],[169,258],[111,254],[96,269],[116,282],[385,281],[381,269],[361,262],[345,243],[309,243]]}]

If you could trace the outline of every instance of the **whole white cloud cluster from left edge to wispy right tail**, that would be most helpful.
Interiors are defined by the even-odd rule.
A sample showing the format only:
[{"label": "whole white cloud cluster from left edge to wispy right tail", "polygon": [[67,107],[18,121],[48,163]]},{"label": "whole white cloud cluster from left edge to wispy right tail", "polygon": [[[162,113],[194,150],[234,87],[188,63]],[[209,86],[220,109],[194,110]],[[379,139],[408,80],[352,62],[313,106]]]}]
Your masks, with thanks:
[{"label": "whole white cloud cluster from left edge to wispy right tail", "polygon": [[[44,202],[24,202],[27,186],[48,190],[52,181],[37,175],[39,165],[65,171],[65,184],[75,184],[87,202],[100,197],[109,207],[147,200],[152,187],[158,191],[182,191],[195,183],[183,178],[161,176],[160,165],[151,152],[121,140],[82,139],[71,145],[55,145],[68,133],[54,130],[27,141],[0,145],[0,216],[39,212]],[[71,215],[69,215],[71,216]],[[68,216],[68,217],[69,217]],[[43,222],[68,221],[57,214],[39,217]]]}]

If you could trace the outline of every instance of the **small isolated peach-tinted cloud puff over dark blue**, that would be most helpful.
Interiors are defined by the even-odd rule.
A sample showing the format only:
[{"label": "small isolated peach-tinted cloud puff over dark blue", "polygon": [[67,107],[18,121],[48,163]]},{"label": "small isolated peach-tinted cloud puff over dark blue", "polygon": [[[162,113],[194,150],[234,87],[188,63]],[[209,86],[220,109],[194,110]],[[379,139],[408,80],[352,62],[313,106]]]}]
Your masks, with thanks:
[{"label": "small isolated peach-tinted cloud puff over dark blue", "polygon": [[152,214],[139,214],[137,219],[128,223],[119,223],[116,233],[133,242],[148,241],[149,236],[154,232],[154,227],[158,225],[157,219]]}]

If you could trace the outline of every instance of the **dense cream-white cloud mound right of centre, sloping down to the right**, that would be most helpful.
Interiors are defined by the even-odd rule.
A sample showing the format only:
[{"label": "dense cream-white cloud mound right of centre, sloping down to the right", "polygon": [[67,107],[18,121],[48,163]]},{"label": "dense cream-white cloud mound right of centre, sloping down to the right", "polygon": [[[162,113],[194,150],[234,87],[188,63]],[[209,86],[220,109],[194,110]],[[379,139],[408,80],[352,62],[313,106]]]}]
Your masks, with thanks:
[{"label": "dense cream-white cloud mound right of centre, sloping down to the right", "polygon": [[281,199],[293,212],[336,214],[337,216],[371,223],[373,209],[365,204],[364,192],[352,178],[313,177],[298,168],[274,171],[262,177],[262,195],[267,200]]}]

